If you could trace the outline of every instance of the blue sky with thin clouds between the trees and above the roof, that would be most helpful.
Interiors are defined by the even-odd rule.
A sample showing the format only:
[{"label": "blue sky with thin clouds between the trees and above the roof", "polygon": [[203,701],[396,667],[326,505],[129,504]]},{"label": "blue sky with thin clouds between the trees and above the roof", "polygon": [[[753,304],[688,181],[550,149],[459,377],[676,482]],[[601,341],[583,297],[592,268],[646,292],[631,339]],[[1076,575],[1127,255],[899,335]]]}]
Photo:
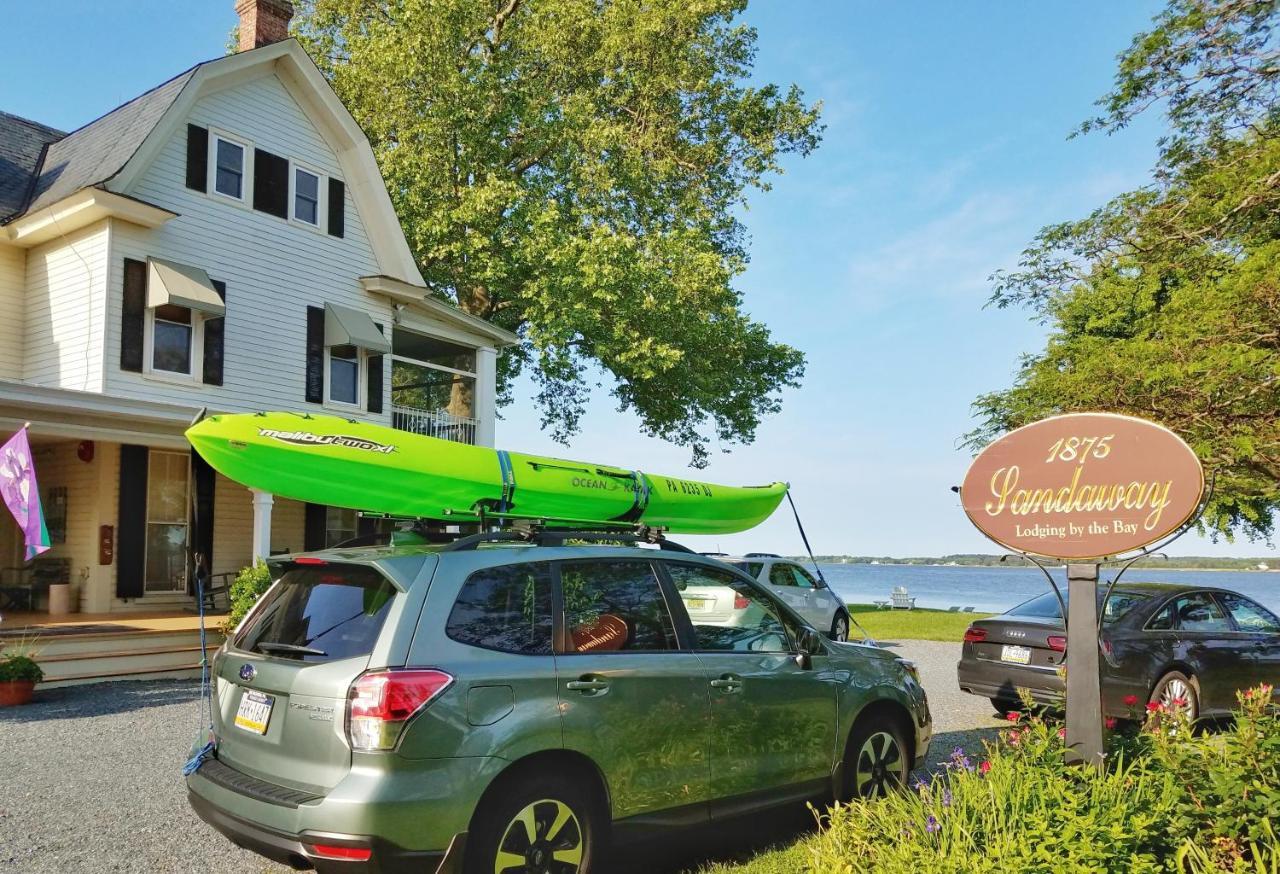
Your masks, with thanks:
[{"label": "blue sky with thin clouds between the trees and above the roof", "polygon": [[[0,109],[64,129],[220,55],[232,0],[50,0],[6,22]],[[948,486],[968,454],[969,404],[1007,385],[1037,349],[1025,314],[984,310],[987,276],[1037,229],[1142,184],[1160,120],[1068,141],[1160,4],[1089,0],[951,4],[755,0],[760,81],[824,102],[827,132],[772,192],[751,197],[746,307],[809,356],[754,445],[691,476],[792,484],[818,552],[996,552]],[[56,35],[56,38],[50,38]],[[104,47],[109,50],[104,52]],[[100,59],[109,59],[102,67]],[[680,472],[689,453],[644,438],[599,392],[582,433],[539,431],[529,385],[498,425],[500,445]],[[724,550],[800,549],[790,514]],[[1261,544],[1184,539],[1181,554],[1271,554]]]}]

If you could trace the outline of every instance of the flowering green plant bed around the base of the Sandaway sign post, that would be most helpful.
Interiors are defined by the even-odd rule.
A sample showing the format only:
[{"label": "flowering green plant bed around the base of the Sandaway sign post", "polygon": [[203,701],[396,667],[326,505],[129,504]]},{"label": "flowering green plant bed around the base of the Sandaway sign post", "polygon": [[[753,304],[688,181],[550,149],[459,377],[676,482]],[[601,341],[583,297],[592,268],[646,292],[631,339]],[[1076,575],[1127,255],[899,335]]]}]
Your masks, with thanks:
[{"label": "flowering green plant bed around the base of the Sandaway sign post", "polygon": [[806,874],[1276,874],[1280,717],[1270,687],[1242,694],[1220,733],[1194,733],[1164,711],[1140,732],[1120,726],[1103,769],[1064,764],[1056,723],[1011,720],[983,758],[954,750],[928,783],[837,805],[818,834],[759,866],[712,870],[772,874],[785,860]]}]

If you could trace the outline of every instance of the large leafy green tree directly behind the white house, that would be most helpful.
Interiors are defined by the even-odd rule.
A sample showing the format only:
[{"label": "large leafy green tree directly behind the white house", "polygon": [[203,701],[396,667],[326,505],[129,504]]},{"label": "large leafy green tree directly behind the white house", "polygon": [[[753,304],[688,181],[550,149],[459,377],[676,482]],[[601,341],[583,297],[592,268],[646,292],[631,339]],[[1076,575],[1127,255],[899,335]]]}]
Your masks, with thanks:
[{"label": "large leafy green tree directly behind the white house", "polygon": [[751,83],[746,0],[307,0],[296,31],[355,114],[430,288],[520,334],[564,440],[604,371],[705,463],[804,357],[742,311],[740,215],[818,106]]}]

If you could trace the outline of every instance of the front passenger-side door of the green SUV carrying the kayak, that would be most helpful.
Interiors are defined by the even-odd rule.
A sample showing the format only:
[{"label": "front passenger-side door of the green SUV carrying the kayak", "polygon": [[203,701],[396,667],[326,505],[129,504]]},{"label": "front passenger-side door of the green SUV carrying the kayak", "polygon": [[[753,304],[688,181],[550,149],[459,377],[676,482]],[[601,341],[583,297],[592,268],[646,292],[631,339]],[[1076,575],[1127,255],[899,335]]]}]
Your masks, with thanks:
[{"label": "front passenger-side door of the green SUV carrying the kayak", "polygon": [[827,658],[801,667],[799,626],[737,575],[682,562],[663,567],[677,590],[719,586],[748,604],[727,622],[691,619],[712,697],[712,795],[820,788],[836,763],[836,685]]}]

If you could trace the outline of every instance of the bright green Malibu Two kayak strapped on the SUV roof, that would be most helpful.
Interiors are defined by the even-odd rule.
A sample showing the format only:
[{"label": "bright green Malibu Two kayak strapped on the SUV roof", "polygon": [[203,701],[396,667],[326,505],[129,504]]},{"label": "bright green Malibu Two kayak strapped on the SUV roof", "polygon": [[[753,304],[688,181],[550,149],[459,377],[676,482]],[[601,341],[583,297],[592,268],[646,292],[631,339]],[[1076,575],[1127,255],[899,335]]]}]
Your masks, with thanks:
[{"label": "bright green Malibu Two kayak strapped on the SUV roof", "polygon": [[214,470],[251,489],[452,522],[509,517],[733,534],[768,518],[787,490],[526,456],[335,416],[210,416],[187,439]]}]

